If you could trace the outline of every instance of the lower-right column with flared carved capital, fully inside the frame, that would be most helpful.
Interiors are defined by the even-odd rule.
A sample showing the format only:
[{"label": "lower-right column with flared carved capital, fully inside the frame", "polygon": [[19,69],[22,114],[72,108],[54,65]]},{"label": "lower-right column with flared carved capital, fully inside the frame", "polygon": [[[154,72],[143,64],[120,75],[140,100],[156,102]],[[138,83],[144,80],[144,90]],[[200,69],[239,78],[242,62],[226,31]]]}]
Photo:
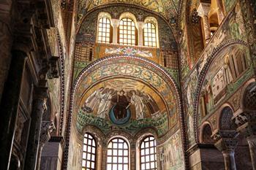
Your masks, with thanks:
[{"label": "lower-right column with flared carved capital, fully inside the frame", "polygon": [[222,152],[226,170],[236,170],[235,149],[238,144],[236,137],[238,133],[234,130],[219,130],[212,135],[216,143],[215,147]]}]

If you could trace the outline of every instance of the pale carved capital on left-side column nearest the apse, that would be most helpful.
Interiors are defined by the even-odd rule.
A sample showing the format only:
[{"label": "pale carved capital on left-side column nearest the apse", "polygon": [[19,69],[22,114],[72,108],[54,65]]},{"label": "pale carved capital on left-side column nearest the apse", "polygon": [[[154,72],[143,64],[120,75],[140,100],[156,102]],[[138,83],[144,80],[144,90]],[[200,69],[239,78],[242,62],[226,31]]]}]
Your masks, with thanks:
[{"label": "pale carved capital on left-side column nearest the apse", "polygon": [[56,129],[53,121],[42,121],[40,132],[40,146],[43,146],[50,139],[50,133]]}]

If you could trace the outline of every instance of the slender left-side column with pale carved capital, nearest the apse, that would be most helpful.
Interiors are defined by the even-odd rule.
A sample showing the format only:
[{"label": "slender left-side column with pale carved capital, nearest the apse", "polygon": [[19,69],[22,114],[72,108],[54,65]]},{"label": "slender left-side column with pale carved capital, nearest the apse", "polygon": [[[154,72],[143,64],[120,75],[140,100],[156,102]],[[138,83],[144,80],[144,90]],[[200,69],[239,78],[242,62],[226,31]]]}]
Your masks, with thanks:
[{"label": "slender left-side column with pale carved capital, nearest the apse", "polygon": [[53,121],[42,121],[41,132],[40,132],[40,142],[39,150],[37,155],[37,170],[40,169],[42,148],[45,146],[45,143],[50,139],[50,133],[55,129]]}]

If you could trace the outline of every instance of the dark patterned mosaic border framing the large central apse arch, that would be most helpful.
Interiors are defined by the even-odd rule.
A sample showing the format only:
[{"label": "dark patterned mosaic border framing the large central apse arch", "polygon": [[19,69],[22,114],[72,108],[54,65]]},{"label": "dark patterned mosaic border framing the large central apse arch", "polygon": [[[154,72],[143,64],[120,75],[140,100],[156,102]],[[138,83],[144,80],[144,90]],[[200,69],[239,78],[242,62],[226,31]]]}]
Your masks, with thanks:
[{"label": "dark patterned mosaic border framing the large central apse arch", "polygon": [[67,169],[67,162],[68,162],[68,152],[69,152],[69,137],[70,137],[70,130],[71,130],[71,121],[72,121],[72,110],[73,110],[73,104],[74,104],[74,96],[75,96],[75,91],[76,88],[78,86],[78,82],[80,82],[80,78],[83,76],[83,74],[85,72],[87,72],[89,69],[93,68],[94,66],[97,66],[97,64],[101,63],[101,62],[105,62],[108,61],[110,59],[120,59],[120,58],[131,58],[131,59],[137,59],[143,62],[146,62],[148,64],[151,64],[152,66],[154,66],[156,69],[158,69],[159,71],[161,71],[163,74],[165,74],[167,76],[167,78],[169,78],[169,80],[173,83],[173,87],[175,88],[174,92],[176,92],[175,96],[176,96],[176,100],[177,100],[177,109],[178,109],[178,114],[179,114],[179,120],[181,123],[181,139],[182,139],[182,143],[183,143],[183,151],[184,151],[184,157],[186,158],[185,154],[185,146],[186,146],[186,139],[185,139],[185,131],[184,131],[184,114],[181,112],[181,107],[182,107],[182,103],[181,103],[181,92],[180,89],[178,88],[178,85],[175,81],[175,79],[164,69],[162,68],[162,66],[159,66],[157,63],[155,63],[154,61],[149,61],[146,58],[140,58],[134,55],[111,55],[109,57],[105,57],[105,58],[99,58],[97,61],[94,61],[92,63],[90,63],[88,66],[86,66],[81,72],[80,74],[78,74],[78,77],[76,78],[75,82],[72,85],[72,89],[71,89],[71,93],[70,93],[70,101],[69,101],[69,115],[67,117],[67,127],[66,127],[66,136],[65,136],[65,150],[64,150],[64,164],[63,164],[63,169]]}]

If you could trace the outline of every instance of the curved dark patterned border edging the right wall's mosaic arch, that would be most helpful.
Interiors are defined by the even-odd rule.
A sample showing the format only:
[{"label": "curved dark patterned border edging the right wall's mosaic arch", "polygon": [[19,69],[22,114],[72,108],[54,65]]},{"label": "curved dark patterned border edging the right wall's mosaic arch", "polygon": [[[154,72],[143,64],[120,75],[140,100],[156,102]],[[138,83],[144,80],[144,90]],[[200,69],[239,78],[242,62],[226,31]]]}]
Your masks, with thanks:
[{"label": "curved dark patterned border edging the right wall's mosaic arch", "polygon": [[205,80],[206,74],[208,73],[208,69],[211,66],[211,63],[214,61],[214,59],[221,53],[225,48],[232,47],[235,45],[244,45],[246,47],[249,47],[249,43],[244,42],[241,39],[229,39],[225,42],[220,43],[217,45],[217,47],[214,47],[211,55],[208,56],[206,60],[206,64],[203,66],[202,71],[200,72],[198,76],[197,81],[197,88],[195,90],[195,101],[193,102],[193,124],[194,124],[194,131],[195,131],[195,142],[199,143],[199,132],[197,131],[197,125],[198,125],[198,107],[199,107],[199,99],[200,99],[200,90],[203,86],[203,82]]}]

